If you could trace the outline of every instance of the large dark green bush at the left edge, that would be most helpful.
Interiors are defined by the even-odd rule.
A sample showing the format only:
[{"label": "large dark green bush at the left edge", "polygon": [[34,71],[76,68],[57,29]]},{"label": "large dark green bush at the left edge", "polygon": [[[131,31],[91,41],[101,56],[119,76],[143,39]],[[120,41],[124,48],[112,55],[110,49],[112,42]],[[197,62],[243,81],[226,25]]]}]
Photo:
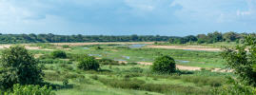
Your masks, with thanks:
[{"label": "large dark green bush at the left edge", "polygon": [[1,55],[0,85],[10,88],[14,84],[36,85],[43,82],[43,71],[25,47],[10,47]]}]

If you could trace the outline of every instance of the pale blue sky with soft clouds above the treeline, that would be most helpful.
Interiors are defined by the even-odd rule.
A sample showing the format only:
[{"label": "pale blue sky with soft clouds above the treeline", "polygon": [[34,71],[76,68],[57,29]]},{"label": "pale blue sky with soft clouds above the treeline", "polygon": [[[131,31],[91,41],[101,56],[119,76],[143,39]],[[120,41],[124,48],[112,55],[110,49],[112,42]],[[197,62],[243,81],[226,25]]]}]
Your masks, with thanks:
[{"label": "pale blue sky with soft clouds above the treeline", "polygon": [[1,33],[186,36],[256,31],[256,0],[0,0]]}]

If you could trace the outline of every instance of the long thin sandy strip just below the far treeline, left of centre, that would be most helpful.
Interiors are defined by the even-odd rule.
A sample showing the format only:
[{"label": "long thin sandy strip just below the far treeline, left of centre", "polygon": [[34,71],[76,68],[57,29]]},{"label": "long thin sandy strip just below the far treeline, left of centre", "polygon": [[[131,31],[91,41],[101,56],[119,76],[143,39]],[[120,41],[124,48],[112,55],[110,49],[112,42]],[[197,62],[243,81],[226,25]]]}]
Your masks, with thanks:
[{"label": "long thin sandy strip just below the far treeline, left of centre", "polygon": [[95,42],[95,43],[51,43],[56,46],[89,46],[89,45],[134,45],[134,44],[154,44],[154,42]]}]

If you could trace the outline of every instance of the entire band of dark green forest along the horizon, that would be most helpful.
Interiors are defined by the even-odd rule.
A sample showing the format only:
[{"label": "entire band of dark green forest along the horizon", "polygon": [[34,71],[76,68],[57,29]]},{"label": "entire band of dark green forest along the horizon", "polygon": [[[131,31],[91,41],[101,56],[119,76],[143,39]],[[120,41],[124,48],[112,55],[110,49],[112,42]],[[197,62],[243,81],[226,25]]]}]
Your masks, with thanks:
[{"label": "entire band of dark green forest along the horizon", "polygon": [[[160,36],[160,35],[55,35],[55,34],[0,34],[1,44],[16,44],[16,43],[64,43],[64,42],[150,42],[163,41],[171,44],[186,44],[186,43],[216,43],[216,42],[238,42],[243,43],[244,36],[248,33],[218,31],[188,35],[185,37],[176,36]],[[255,35],[255,34],[253,34]]]}]

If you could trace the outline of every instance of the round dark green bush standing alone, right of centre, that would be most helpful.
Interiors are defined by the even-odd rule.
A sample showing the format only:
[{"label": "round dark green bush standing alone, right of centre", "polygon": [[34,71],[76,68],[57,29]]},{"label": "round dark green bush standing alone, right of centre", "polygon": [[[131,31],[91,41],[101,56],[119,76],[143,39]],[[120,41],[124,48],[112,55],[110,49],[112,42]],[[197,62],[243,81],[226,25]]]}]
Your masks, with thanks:
[{"label": "round dark green bush standing alone, right of centre", "polygon": [[173,58],[165,55],[158,57],[151,66],[153,72],[173,73],[176,71],[175,61]]}]

